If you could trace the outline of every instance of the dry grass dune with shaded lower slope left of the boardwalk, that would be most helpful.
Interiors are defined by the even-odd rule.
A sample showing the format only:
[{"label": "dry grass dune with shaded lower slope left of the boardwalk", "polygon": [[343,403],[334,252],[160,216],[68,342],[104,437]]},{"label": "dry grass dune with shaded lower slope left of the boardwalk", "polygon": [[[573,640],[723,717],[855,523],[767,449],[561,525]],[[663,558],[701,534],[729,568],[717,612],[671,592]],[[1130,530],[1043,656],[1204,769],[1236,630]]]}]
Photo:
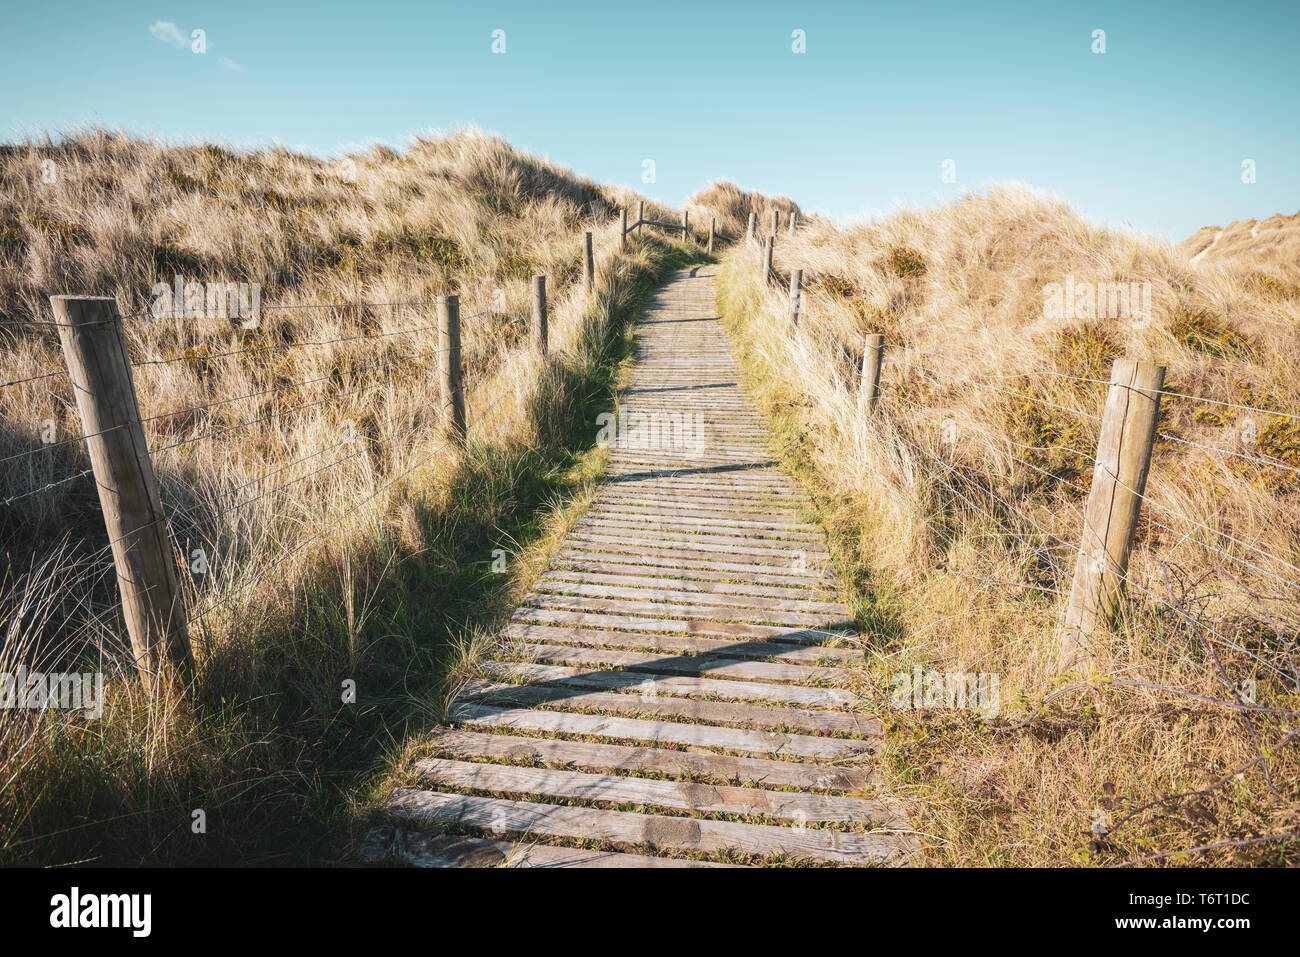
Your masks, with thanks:
[{"label": "dry grass dune with shaded lower slope left of the boardwalk", "polygon": [[[88,465],[66,376],[0,389],[0,498],[23,495],[0,518],[0,664],[109,672],[104,720],[0,713],[0,859],[333,859],[359,779],[526,573],[493,575],[493,549],[526,545],[572,492],[611,335],[676,254],[618,252],[634,194],[473,130],[344,163],[88,131],[6,147],[0,183],[0,380],[62,368],[52,330],[22,322],[51,320],[48,295],[116,296],[178,558],[209,563],[187,583],[195,697],[150,705],[94,486],[26,494]],[[147,315],[176,273],[260,283],[261,322]],[[546,363],[526,342],[533,273]],[[443,293],[462,299],[465,449],[436,400],[426,300]]]}]

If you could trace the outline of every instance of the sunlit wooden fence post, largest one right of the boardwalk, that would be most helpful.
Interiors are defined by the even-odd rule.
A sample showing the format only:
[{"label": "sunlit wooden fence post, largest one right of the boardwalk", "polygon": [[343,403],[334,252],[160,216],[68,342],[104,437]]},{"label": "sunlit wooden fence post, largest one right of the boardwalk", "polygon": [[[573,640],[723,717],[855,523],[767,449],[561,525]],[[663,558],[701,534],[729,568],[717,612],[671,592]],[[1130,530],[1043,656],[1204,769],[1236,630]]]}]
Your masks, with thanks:
[{"label": "sunlit wooden fence post, largest one right of the boardwalk", "polygon": [[1165,367],[1157,363],[1117,359],[1110,369],[1097,464],[1061,635],[1066,670],[1091,657],[1089,638],[1109,624],[1123,594],[1164,385]]}]

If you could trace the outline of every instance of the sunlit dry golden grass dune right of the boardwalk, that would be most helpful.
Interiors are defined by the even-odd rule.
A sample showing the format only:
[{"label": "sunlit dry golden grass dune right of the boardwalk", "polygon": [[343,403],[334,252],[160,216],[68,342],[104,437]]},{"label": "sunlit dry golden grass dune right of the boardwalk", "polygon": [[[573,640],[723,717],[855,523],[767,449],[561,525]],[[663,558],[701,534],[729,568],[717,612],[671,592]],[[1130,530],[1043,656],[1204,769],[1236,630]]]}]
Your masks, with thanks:
[{"label": "sunlit dry golden grass dune right of the boardwalk", "polygon": [[[783,281],[805,270],[797,333],[753,248],[724,264],[724,313],[853,581],[878,698],[915,664],[1001,675],[997,720],[887,707],[887,791],[914,800],[931,861],[1113,863],[1300,830],[1294,471],[1161,439],[1124,615],[1089,674],[1053,661],[1105,395],[1079,380],[1152,359],[1169,390],[1295,415],[1300,298],[1010,189],[811,224],[776,263]],[[1067,274],[1152,283],[1149,322],[1045,317],[1044,286]],[[876,332],[890,345],[871,415],[855,365]],[[1160,429],[1300,465],[1295,419],[1166,397]],[[1247,680],[1286,714],[1190,697],[1235,703]],[[1158,859],[1295,863],[1296,848]]]}]

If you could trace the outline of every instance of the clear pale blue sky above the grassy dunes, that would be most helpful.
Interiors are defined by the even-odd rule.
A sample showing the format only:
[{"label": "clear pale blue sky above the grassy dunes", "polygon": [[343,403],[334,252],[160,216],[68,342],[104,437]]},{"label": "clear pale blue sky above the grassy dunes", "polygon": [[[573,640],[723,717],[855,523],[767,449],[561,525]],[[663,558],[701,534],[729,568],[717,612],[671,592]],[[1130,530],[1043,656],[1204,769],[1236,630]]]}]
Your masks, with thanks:
[{"label": "clear pale blue sky above the grassy dunes", "polygon": [[1300,209],[1294,3],[47,0],[4,16],[5,140],[99,124],[337,155],[474,124],[675,205],[729,178],[854,218],[1018,181],[1173,239]]}]

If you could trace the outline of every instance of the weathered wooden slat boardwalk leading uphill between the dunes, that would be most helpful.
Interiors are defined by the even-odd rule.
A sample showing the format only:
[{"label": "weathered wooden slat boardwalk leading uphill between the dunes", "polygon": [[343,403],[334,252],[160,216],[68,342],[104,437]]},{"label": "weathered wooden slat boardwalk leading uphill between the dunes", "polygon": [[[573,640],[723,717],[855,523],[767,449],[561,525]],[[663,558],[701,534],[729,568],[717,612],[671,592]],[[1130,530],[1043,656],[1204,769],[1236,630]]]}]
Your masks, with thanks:
[{"label": "weathered wooden slat boardwalk leading uphill between the dunes", "polygon": [[824,534],[740,386],[711,269],[651,300],[620,408],[592,507],[364,854],[907,862],[906,817],[855,794],[880,735],[849,689],[861,650]]}]

